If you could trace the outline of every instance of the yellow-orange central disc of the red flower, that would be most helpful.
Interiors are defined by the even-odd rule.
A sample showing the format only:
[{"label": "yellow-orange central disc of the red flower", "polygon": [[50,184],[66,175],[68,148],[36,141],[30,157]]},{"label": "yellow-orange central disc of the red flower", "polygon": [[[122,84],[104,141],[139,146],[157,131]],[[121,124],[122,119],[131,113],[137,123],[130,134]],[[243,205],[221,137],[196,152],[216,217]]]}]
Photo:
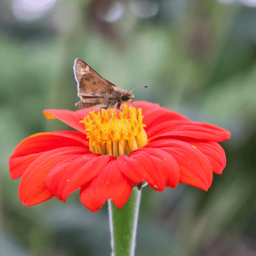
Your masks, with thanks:
[{"label": "yellow-orange central disc of the red flower", "polygon": [[[91,116],[91,117],[90,117]],[[94,111],[84,118],[85,131],[89,138],[90,151],[101,155],[130,155],[137,148],[148,143],[148,137],[142,124],[142,109],[124,106],[124,111]]]}]

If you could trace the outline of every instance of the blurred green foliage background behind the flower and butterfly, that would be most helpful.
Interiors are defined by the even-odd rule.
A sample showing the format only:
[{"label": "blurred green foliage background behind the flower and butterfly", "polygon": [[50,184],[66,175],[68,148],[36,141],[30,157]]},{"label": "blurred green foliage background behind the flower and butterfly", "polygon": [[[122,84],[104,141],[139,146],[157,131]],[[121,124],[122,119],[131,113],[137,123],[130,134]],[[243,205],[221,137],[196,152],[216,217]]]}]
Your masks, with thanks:
[{"label": "blurred green foliage background behind the flower and butterfly", "polygon": [[256,255],[255,0],[0,0],[0,255],[110,255],[106,205],[19,201],[15,145],[67,129],[43,109],[75,111],[79,57],[118,87],[226,128],[227,167],[203,192],[142,191],[136,255]]}]

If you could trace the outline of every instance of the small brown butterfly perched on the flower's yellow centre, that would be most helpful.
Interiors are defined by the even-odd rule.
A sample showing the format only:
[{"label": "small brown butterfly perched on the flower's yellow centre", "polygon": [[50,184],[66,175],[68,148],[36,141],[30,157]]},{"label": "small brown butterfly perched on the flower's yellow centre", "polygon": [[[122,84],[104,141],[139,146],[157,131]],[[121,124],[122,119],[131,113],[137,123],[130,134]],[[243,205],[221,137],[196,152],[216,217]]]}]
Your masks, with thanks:
[{"label": "small brown butterfly perched on the flower's yellow centre", "polygon": [[80,97],[80,101],[76,104],[78,108],[91,108],[99,105],[104,109],[117,108],[120,110],[122,104],[129,103],[134,98],[132,90],[116,87],[101,77],[84,60],[78,58],[75,60],[73,73],[77,80],[77,96]]}]

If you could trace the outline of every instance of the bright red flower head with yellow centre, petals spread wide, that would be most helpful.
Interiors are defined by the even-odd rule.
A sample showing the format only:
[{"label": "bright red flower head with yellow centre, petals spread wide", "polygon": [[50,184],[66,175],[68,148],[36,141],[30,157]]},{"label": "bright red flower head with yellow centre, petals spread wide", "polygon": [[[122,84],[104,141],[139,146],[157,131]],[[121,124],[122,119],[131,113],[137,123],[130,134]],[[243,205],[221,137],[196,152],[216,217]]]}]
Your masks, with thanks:
[{"label": "bright red flower head with yellow centre, petals spread wide", "polygon": [[[95,125],[96,119],[93,122],[86,118],[91,109],[43,111],[46,118],[58,118],[77,131],[38,133],[17,145],[9,159],[9,169],[12,179],[22,176],[19,183],[22,203],[31,206],[53,196],[65,201],[70,193],[80,188],[81,202],[95,212],[109,199],[121,208],[134,185],[142,181],[157,191],[166,186],[175,188],[178,183],[207,190],[213,172],[220,174],[226,165],[224,149],[217,142],[229,139],[230,132],[190,121],[158,104],[138,101],[135,105],[142,108],[145,128],[142,122],[136,126],[137,114],[136,122],[128,122],[126,115],[129,114],[124,110],[122,124],[124,128],[130,127],[128,137],[118,135],[118,140],[116,131],[108,129],[118,120],[114,114],[103,128],[107,127],[109,131],[104,134],[109,138],[106,137],[106,142],[101,142],[103,137],[93,139],[98,133],[102,135],[97,128],[104,121]],[[98,112],[97,109],[94,111]],[[81,122],[84,118],[87,121]],[[138,121],[142,121],[141,115]],[[120,123],[115,126],[123,131],[121,127]],[[138,133],[133,136],[131,133],[135,129]],[[106,153],[111,155],[102,155]]]}]

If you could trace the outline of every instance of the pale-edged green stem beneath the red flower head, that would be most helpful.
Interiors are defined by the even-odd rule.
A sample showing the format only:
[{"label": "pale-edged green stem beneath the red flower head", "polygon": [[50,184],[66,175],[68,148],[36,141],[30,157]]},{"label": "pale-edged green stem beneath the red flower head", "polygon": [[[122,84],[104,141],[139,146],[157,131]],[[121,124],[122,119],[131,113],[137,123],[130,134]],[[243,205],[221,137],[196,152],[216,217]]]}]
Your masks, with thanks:
[{"label": "pale-edged green stem beneath the red flower head", "polygon": [[125,206],[117,209],[108,200],[108,213],[111,229],[111,256],[134,256],[135,237],[138,224],[138,210],[142,191],[133,189]]}]

